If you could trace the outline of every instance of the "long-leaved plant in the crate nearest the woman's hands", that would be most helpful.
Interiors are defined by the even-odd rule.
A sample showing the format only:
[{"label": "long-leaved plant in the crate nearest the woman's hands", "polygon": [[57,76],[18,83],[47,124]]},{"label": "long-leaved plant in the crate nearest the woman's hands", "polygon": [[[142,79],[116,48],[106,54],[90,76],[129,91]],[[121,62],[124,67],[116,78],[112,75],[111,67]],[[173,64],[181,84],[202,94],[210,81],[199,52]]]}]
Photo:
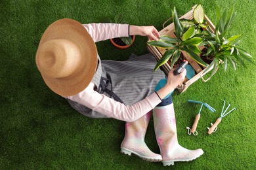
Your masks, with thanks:
[{"label": "long-leaved plant in the crate nearest the woman's hands", "polygon": [[191,58],[201,65],[206,66],[207,63],[198,56],[201,53],[198,45],[203,42],[202,34],[198,33],[196,27],[189,27],[184,29],[181,21],[178,18],[177,11],[173,9],[173,23],[175,29],[175,37],[170,37],[169,35],[161,35],[158,41],[148,41],[147,44],[152,46],[158,46],[160,48],[168,48],[165,51],[161,59],[156,64],[154,71],[158,69],[161,65],[171,60],[171,68],[173,68],[174,63],[179,59],[182,51],[186,52]]}]

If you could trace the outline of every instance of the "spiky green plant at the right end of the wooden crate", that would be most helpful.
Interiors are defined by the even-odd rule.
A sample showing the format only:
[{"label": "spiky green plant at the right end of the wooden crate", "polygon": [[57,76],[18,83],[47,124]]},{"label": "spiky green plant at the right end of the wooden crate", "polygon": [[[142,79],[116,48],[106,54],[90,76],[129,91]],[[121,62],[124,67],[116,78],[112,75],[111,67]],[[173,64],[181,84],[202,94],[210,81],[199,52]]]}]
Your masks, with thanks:
[{"label": "spiky green plant at the right end of the wooden crate", "polygon": [[221,14],[219,7],[216,7],[216,14],[217,25],[215,27],[215,31],[214,33],[211,33],[211,31],[207,29],[208,34],[205,35],[205,41],[207,41],[207,43],[204,45],[206,50],[201,55],[202,57],[205,56],[207,59],[211,60],[209,65],[209,67],[213,66],[211,76],[215,74],[221,63],[224,65],[224,71],[226,71],[228,63],[232,65],[234,70],[236,70],[236,61],[244,67],[246,67],[244,59],[253,63],[251,60],[252,56],[248,54],[244,48],[238,46],[240,42],[238,37],[241,35],[224,37],[236,16],[234,6],[229,10],[229,12],[225,10],[223,14]]}]

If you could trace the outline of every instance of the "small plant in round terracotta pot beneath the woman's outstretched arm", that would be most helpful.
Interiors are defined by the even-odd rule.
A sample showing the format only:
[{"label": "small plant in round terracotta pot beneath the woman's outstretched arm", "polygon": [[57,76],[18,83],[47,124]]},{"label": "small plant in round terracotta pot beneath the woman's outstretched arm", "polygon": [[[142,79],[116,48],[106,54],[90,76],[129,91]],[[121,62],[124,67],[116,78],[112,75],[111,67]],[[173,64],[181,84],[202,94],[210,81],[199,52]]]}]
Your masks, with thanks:
[{"label": "small plant in round terracotta pot beneath the woman's outstretched arm", "polygon": [[[114,17],[114,21],[109,20],[109,22],[116,23],[116,24],[127,24],[127,22],[123,20],[123,16],[121,14],[117,14]],[[133,44],[134,41],[135,41],[135,35],[131,35],[130,37],[119,37],[119,38],[110,39],[110,42],[112,42],[112,44],[116,46],[116,48],[118,48],[119,50],[128,48],[129,46],[131,46],[131,44]]]}]

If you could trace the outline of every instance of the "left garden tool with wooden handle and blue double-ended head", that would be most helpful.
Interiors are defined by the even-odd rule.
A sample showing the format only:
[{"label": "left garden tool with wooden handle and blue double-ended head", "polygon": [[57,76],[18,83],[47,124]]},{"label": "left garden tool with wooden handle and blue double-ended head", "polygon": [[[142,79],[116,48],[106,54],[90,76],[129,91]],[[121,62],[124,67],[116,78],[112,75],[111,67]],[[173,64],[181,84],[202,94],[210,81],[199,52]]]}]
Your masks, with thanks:
[{"label": "left garden tool with wooden handle and blue double-ended head", "polygon": [[216,110],[213,109],[213,107],[211,107],[207,103],[203,103],[201,101],[188,100],[188,102],[201,104],[200,110],[199,110],[198,114],[196,114],[196,118],[194,120],[194,124],[193,124],[192,128],[190,129],[190,127],[186,127],[186,129],[188,129],[188,134],[189,135],[191,135],[191,133],[193,133],[193,135],[198,135],[198,132],[196,131],[196,127],[198,126],[198,121],[200,119],[201,110],[202,110],[203,106],[205,106],[211,112],[215,112]]}]

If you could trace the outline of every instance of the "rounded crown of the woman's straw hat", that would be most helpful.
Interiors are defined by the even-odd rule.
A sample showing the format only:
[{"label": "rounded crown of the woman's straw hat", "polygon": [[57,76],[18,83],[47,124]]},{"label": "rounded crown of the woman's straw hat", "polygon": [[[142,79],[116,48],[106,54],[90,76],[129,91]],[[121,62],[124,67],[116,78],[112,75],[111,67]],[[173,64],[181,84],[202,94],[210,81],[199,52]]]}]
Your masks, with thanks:
[{"label": "rounded crown of the woman's straw hat", "polygon": [[79,71],[81,62],[79,46],[68,39],[44,42],[37,51],[37,67],[45,76],[64,78]]}]

